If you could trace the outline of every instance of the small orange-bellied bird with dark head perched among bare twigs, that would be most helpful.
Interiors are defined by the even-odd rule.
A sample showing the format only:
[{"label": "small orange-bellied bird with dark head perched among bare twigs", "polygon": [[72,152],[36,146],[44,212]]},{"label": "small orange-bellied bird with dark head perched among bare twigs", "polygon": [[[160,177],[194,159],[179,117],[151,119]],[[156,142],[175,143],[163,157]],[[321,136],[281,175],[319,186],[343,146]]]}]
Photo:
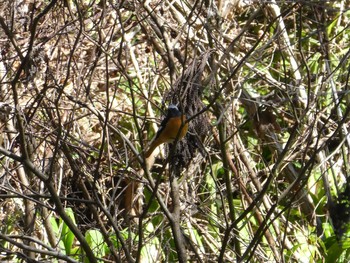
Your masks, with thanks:
[{"label": "small orange-bellied bird with dark head perched among bare twigs", "polygon": [[182,114],[176,105],[170,104],[166,117],[161,122],[157,134],[145,152],[145,157],[151,156],[153,151],[163,143],[173,143],[176,139],[181,140],[187,131],[186,115]]}]

